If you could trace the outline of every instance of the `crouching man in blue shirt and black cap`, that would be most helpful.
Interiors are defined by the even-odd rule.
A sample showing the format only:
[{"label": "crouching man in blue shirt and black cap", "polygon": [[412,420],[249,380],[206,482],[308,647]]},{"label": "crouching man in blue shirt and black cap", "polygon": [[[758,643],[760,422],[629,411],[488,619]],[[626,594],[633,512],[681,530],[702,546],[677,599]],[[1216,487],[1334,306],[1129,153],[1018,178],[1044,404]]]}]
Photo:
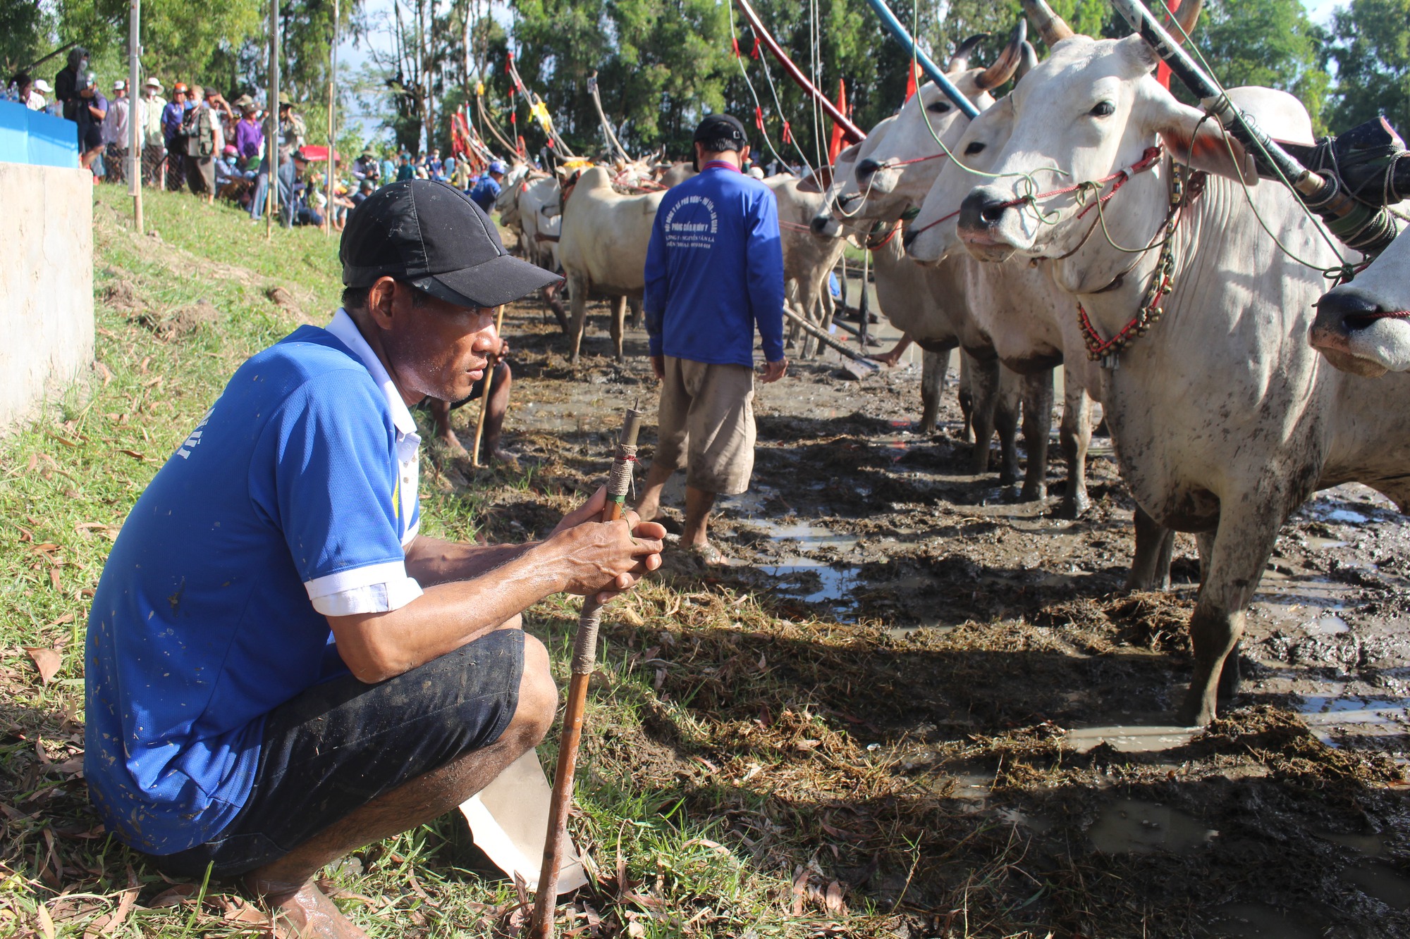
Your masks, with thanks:
[{"label": "crouching man in blue shirt and black cap", "polygon": [[299,935],[364,936],[313,885],[479,791],[553,722],[519,612],[660,567],[658,524],[543,541],[417,533],[407,406],[457,400],[492,307],[556,278],[453,188],[384,186],[341,243],[343,309],[235,372],[113,546],[87,634],[93,804],[158,869],[243,877]]}]

